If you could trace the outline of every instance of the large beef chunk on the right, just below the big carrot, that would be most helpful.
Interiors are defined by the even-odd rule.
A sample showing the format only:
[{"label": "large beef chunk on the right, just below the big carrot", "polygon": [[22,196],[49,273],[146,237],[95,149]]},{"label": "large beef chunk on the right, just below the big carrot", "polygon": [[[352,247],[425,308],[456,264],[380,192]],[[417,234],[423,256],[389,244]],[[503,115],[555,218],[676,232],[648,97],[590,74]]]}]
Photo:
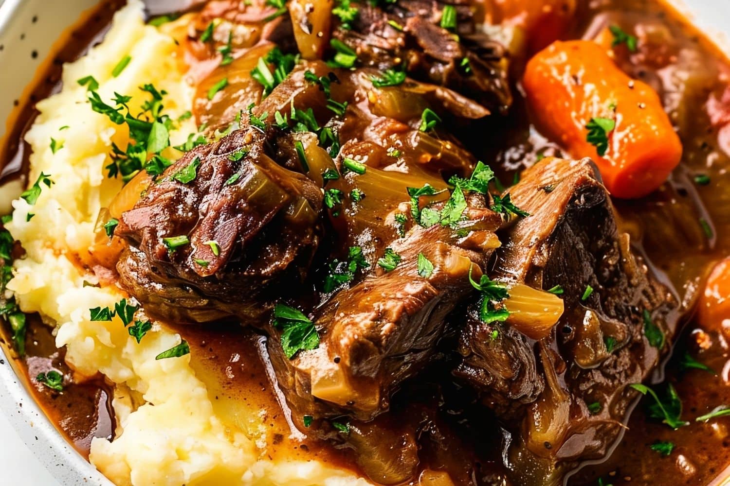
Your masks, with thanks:
[{"label": "large beef chunk on the right, just below the big carrot", "polygon": [[[495,326],[472,310],[456,375],[512,424],[515,481],[552,484],[562,466],[601,458],[615,442],[636,396],[627,385],[647,379],[669,348],[677,302],[632,254],[590,160],[539,162],[510,194],[531,216],[507,229],[493,277],[559,285],[565,312],[535,342],[509,321],[490,339]],[[542,479],[520,475],[530,475],[527,463]]]}]

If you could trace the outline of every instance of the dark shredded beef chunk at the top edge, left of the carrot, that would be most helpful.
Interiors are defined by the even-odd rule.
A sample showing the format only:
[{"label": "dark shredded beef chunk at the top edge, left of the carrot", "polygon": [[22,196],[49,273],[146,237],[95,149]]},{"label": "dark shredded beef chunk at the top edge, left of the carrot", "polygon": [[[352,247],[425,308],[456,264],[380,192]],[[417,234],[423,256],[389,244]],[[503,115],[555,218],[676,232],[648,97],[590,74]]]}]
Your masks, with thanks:
[{"label": "dark shredded beef chunk at the top edge, left of the carrot", "polygon": [[365,66],[385,70],[403,63],[414,79],[450,87],[491,111],[505,111],[512,95],[504,47],[477,30],[466,4],[456,7],[458,38],[439,26],[445,5],[401,0],[381,8],[362,2],[352,28],[338,26],[333,36],[356,50]]}]

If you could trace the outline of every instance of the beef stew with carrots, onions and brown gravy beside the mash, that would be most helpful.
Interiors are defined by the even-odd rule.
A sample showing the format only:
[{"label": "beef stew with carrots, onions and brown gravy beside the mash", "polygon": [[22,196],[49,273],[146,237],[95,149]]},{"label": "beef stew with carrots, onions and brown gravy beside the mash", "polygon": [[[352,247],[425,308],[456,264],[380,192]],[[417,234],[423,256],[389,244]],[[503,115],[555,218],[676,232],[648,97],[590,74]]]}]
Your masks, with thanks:
[{"label": "beef stew with carrots, onions and brown gravy beside the mash", "polygon": [[[245,401],[272,457],[381,485],[719,484],[721,52],[660,1],[273,3],[182,17],[207,141],[123,173],[141,195],[99,261],[190,344],[216,412]],[[23,133],[58,64],[119,7],[20,106],[3,181],[26,177]],[[213,19],[261,28],[201,39]],[[37,383],[72,372],[27,319],[25,356],[7,329],[4,347],[88,454],[114,433],[112,389]]]}]

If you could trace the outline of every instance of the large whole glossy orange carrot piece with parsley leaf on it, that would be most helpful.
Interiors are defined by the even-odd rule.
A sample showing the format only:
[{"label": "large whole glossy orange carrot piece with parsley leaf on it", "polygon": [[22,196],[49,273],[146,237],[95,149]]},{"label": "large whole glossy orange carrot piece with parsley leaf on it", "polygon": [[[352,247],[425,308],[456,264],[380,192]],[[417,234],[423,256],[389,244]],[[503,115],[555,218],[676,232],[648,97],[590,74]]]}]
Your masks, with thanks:
[{"label": "large whole glossy orange carrot piece with parsley leaf on it", "polygon": [[[571,157],[591,157],[616,197],[648,195],[680,162],[682,143],[656,92],[594,42],[554,42],[529,61],[523,87],[539,128]],[[596,119],[614,126],[599,149],[588,141]]]}]

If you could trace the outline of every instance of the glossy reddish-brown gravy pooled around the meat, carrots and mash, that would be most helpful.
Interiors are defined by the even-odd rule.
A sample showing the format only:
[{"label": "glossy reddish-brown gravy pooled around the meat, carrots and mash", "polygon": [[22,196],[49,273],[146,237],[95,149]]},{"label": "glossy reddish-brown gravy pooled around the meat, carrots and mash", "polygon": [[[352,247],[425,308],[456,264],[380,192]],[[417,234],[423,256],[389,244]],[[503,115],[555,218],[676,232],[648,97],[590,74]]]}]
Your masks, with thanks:
[{"label": "glossy reddish-brown gravy pooled around the meat, carrots and mash", "polygon": [[[27,171],[28,146],[22,141],[22,136],[35,117],[34,101],[58,90],[61,61],[82,55],[88,45],[103,34],[110,14],[120,3],[107,1],[102,4],[88,24],[64,43],[56,62],[37,83],[31,99],[20,108],[17,122],[12,125],[14,129],[7,138],[8,143],[0,152],[4,168],[2,181],[22,176]],[[718,133],[710,128],[710,120],[704,111],[707,97],[721,92],[727,85],[721,77],[730,72],[730,68],[714,47],[683,20],[669,15],[666,8],[658,7],[655,2],[611,0],[581,3],[579,21],[575,23],[570,37],[582,37],[591,31],[591,25],[601,15],[608,15],[612,23],[623,21],[628,25],[648,26],[645,30],[661,25],[666,27],[667,39],[672,39],[672,46],[676,48],[672,51],[672,46],[665,46],[667,54],[662,76],[672,77],[672,66],[680,62],[679,53],[685,47],[699,52],[704,68],[712,72],[712,76],[699,82],[694,102],[685,103],[689,111],[677,114],[674,120],[682,127],[680,136],[685,154],[672,179],[640,203],[616,203],[623,226],[631,234],[637,250],[648,256],[650,262],[666,274],[666,279],[674,283],[685,310],[689,310],[712,263],[730,252],[730,192],[726,189],[730,187],[727,174],[730,159],[718,148]],[[656,74],[637,68],[633,61],[617,59],[632,76],[655,86],[661,84]],[[650,64],[658,60],[642,62]],[[234,66],[223,69],[232,68]],[[217,79],[215,77],[220,75],[220,72],[214,71],[210,77]],[[666,97],[671,98],[671,93],[664,94],[665,101]],[[210,109],[212,106],[199,107],[201,112]],[[490,132],[491,124],[496,124],[499,130]],[[685,130],[683,124],[690,129]],[[484,133],[496,133],[496,136],[485,144]],[[503,181],[512,180],[513,174],[531,165],[538,154],[558,151],[556,146],[531,130],[529,115],[520,97],[517,97],[510,117],[506,120],[493,117],[475,135],[480,140],[469,148],[482,160],[495,161],[491,165]],[[484,146],[491,148],[484,149]],[[710,176],[711,183],[702,187],[694,184],[693,177],[699,173]],[[712,235],[705,234],[699,224],[700,218],[710,225]],[[672,224],[667,224],[668,219]],[[28,379],[28,388],[53,423],[80,452],[88,455],[91,437],[110,438],[113,434],[114,418],[108,404],[111,391],[101,380],[68,385],[60,394],[34,383],[28,377],[50,367],[69,377],[71,372],[64,364],[63,351],[55,348],[50,328],[38,318],[30,318],[28,329],[28,356],[23,360],[16,359],[14,366],[22,370],[22,375]],[[171,326],[171,329],[179,332],[191,345],[191,366],[206,383],[216,414],[247,436],[265,443],[269,458],[319,460],[358,469],[353,466],[355,460],[349,450],[343,449],[337,442],[333,446],[316,437],[316,421],[312,424],[310,436],[293,427],[283,396],[277,393],[273,383],[274,374],[266,356],[265,337],[237,324]],[[448,344],[448,339],[444,344]],[[730,418],[718,418],[710,423],[694,421],[696,416],[718,405],[730,404],[729,347],[720,335],[703,334],[693,324],[686,327],[676,342],[664,377],[675,383],[685,407],[683,418],[691,421],[691,425],[672,431],[656,420],[646,418],[644,407],[648,401],[642,401],[631,415],[623,440],[610,458],[582,469],[569,479],[569,484],[596,485],[600,477],[604,484],[613,485],[705,485],[730,465]],[[680,369],[678,361],[685,350],[715,369],[717,374]],[[6,354],[10,356],[12,352]],[[426,423],[427,432],[419,439],[423,469],[449,471],[450,477],[459,484],[501,484],[502,429],[491,412],[477,404],[470,391],[450,380],[449,369],[448,364],[439,364],[422,373],[418,380],[405,385],[393,397],[391,412],[378,418],[375,426],[387,431],[415,429]],[[661,375],[658,372],[658,380],[664,378]],[[256,420],[249,420],[249,417]],[[261,428],[261,420],[264,428]],[[669,458],[650,450],[650,444],[658,440],[672,441],[677,445]]]}]

